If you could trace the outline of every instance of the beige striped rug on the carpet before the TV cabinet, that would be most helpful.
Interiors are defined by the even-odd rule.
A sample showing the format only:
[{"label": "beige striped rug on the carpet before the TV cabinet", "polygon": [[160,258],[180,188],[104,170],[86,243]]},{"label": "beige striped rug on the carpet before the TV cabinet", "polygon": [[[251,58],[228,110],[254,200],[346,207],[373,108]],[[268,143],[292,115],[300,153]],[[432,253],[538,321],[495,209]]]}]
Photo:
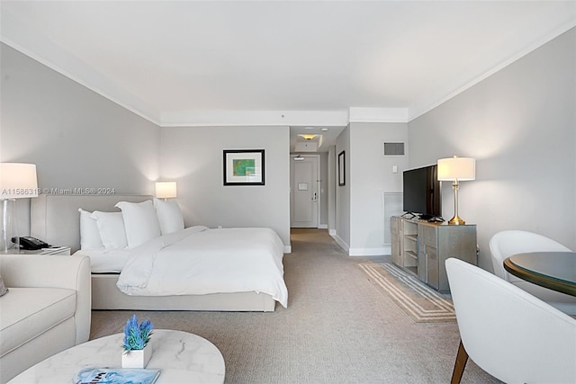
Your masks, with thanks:
[{"label": "beige striped rug on the carpet before the TV cabinet", "polygon": [[452,300],[392,263],[359,263],[369,281],[416,323],[453,323]]}]

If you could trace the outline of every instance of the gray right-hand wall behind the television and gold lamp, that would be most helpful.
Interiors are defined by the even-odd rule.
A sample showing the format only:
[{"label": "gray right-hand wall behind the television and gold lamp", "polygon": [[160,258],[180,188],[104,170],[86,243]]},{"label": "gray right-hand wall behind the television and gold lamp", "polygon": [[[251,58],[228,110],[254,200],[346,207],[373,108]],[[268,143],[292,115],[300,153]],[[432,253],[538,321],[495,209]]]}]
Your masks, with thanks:
[{"label": "gray right-hand wall behind the television and gold lamp", "polygon": [[[410,166],[477,159],[459,215],[478,225],[480,265],[490,271],[488,241],[503,229],[576,249],[575,51],[572,29],[409,123]],[[442,192],[450,219],[454,194],[447,183]]]}]

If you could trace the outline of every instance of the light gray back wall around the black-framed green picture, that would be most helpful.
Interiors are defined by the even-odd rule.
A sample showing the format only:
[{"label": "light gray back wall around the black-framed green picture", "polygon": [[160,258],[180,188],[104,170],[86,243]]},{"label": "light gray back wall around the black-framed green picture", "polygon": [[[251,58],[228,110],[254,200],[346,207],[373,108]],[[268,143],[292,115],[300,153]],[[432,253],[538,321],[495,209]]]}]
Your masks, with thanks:
[{"label": "light gray back wall around the black-framed green picture", "polygon": [[[186,225],[269,227],[290,246],[289,127],[163,128],[163,179],[176,181]],[[224,149],[265,149],[264,186],[224,186]]]}]

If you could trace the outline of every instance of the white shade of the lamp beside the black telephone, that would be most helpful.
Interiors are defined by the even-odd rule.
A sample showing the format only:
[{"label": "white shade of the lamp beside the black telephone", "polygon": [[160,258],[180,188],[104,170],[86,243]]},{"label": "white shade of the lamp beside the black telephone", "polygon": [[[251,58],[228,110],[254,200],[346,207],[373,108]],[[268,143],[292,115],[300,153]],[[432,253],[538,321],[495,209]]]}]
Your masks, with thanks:
[{"label": "white shade of the lamp beside the black telephone", "polygon": [[38,197],[36,165],[0,163],[0,200]]}]

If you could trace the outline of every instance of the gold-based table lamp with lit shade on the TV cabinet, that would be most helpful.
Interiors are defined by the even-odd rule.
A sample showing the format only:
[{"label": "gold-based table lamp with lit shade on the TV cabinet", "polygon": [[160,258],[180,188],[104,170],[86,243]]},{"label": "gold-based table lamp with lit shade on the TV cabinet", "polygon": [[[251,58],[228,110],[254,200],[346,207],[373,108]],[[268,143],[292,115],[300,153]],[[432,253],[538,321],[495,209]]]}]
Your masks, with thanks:
[{"label": "gold-based table lamp with lit shade on the TV cabinet", "polygon": [[464,225],[466,222],[458,216],[458,187],[460,182],[476,178],[476,160],[471,157],[448,157],[438,159],[438,180],[452,182],[454,189],[454,218],[450,225]]}]

